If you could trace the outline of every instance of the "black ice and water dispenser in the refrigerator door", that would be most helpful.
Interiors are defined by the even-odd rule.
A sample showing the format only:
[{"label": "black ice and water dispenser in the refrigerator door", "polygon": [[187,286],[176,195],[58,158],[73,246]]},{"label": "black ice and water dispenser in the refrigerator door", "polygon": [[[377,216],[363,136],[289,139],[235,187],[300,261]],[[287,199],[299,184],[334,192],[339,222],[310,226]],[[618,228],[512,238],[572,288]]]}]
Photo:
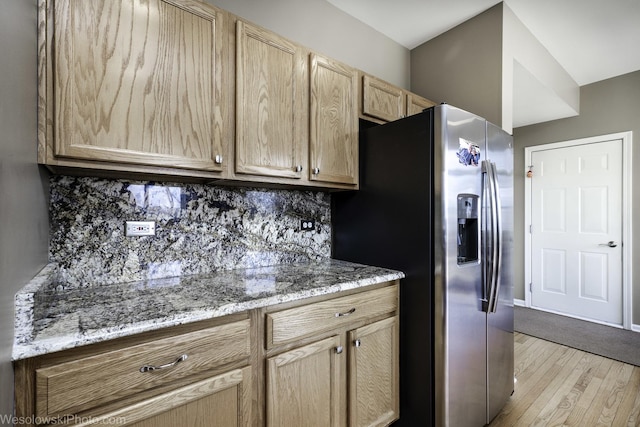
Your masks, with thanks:
[{"label": "black ice and water dispenser in the refrigerator door", "polygon": [[478,199],[458,194],[458,265],[478,261]]}]

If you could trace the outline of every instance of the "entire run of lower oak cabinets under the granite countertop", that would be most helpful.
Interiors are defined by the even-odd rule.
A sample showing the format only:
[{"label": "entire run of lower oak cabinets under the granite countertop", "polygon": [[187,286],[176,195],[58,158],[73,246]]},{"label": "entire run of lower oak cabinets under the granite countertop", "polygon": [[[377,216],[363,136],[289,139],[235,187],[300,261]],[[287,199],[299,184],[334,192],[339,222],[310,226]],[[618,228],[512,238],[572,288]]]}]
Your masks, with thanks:
[{"label": "entire run of lower oak cabinets under the granite countertop", "polygon": [[18,425],[385,426],[398,281],[14,363]]}]

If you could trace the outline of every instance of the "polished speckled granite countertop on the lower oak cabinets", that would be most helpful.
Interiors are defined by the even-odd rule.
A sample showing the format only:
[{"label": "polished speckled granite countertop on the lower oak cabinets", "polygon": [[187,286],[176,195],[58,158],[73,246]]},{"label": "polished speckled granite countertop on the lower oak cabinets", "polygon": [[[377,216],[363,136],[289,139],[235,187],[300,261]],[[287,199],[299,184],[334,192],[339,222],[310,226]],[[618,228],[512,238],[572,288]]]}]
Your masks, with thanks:
[{"label": "polished speckled granite countertop on the lower oak cabinets", "polygon": [[47,265],[16,294],[13,360],[253,308],[401,279],[327,259],[207,275],[67,288]]}]

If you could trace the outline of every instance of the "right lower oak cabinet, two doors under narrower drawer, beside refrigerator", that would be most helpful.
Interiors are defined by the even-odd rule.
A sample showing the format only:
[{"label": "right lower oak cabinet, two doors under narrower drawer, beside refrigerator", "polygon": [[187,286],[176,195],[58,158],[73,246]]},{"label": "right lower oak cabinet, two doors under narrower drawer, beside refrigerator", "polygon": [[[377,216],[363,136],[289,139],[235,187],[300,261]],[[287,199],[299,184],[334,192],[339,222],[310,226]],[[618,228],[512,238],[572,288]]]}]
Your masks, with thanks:
[{"label": "right lower oak cabinet, two doors under narrower drawer, beside refrigerator", "polygon": [[[301,340],[305,344],[289,344],[287,348],[293,348],[267,358],[267,427],[386,426],[398,419],[397,291],[394,285],[267,315],[272,318],[268,337],[274,336],[270,326],[277,328],[281,322],[304,324],[301,310],[307,319],[315,319],[317,331],[340,325],[315,341],[307,336]],[[376,297],[382,299],[379,306]],[[328,309],[331,304],[334,310]],[[350,316],[351,322],[344,320]],[[322,338],[327,333],[330,336]]]}]

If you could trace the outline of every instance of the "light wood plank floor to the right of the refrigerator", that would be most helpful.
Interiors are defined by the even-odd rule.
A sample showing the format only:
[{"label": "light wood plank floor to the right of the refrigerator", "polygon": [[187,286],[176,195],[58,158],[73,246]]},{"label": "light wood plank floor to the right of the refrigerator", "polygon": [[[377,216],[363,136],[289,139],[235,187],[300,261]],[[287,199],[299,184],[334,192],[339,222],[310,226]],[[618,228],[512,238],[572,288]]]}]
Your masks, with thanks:
[{"label": "light wood plank floor to the right of the refrigerator", "polygon": [[637,366],[516,332],[515,376],[490,427],[640,426]]}]

